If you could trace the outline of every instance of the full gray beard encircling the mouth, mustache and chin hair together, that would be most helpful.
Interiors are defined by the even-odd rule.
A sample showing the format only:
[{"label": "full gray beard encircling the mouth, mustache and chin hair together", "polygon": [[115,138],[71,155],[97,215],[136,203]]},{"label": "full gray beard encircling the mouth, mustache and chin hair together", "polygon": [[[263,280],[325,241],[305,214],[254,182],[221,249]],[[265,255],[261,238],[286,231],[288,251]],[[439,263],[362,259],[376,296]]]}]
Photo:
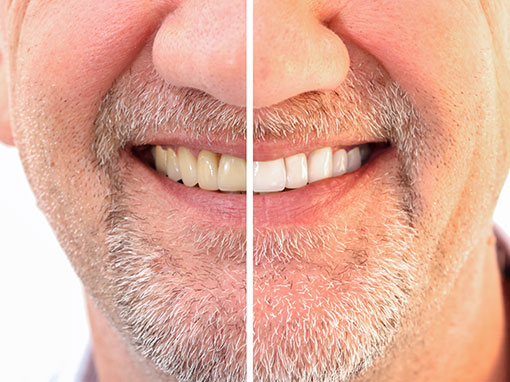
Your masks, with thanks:
[{"label": "full gray beard encircling the mouth, mustache and chin hair together", "polygon": [[[398,149],[401,163],[398,178],[379,180],[395,186],[394,195],[387,195],[394,208],[380,227],[334,223],[313,229],[255,227],[254,311],[260,312],[254,323],[256,381],[338,382],[359,376],[384,353],[401,327],[422,274],[419,264],[425,260],[418,260],[412,251],[418,211],[413,188],[419,155],[418,118],[396,84],[366,76],[351,72],[346,82],[351,86],[344,93],[314,92],[293,100],[303,105],[306,97],[320,100],[324,104],[321,113],[325,112],[316,117],[321,123],[286,123],[269,118],[269,110],[262,111],[256,121],[255,136],[260,139],[282,133],[282,126],[292,129],[286,134],[310,133],[310,126],[315,126],[312,130],[320,136],[327,134],[325,126],[335,129],[355,123],[387,138]],[[244,232],[217,229],[204,233],[193,226],[176,227],[169,237],[193,243],[197,254],[214,259],[213,265],[197,262],[193,269],[184,262],[190,254],[180,253],[177,247],[162,248],[147,237],[146,222],[128,207],[136,204],[136,195],[126,192],[126,180],[115,163],[120,149],[143,135],[139,126],[157,122],[141,123],[137,118],[149,118],[149,112],[161,109],[147,107],[147,102],[147,110],[140,110],[142,103],[129,105],[133,98],[123,93],[124,85],[120,81],[105,98],[94,146],[98,166],[111,179],[112,197],[105,219],[110,227],[108,275],[120,318],[117,327],[139,354],[181,382],[244,381]],[[354,98],[349,94],[353,89],[359,90]],[[151,91],[147,90],[146,99],[151,99]],[[370,94],[365,97],[367,91]],[[347,101],[353,107],[341,109],[339,105]],[[124,115],[119,115],[121,110]],[[344,113],[339,115],[341,110]],[[186,118],[193,126],[190,116],[182,116]],[[272,122],[263,129],[262,120]],[[119,129],[122,121],[128,129]],[[307,126],[307,132],[300,131],[300,126]],[[345,258],[349,261],[335,262]],[[155,266],[161,263],[163,268]],[[289,279],[290,273],[299,275],[298,282]],[[276,285],[288,293],[268,300],[268,291]]]}]

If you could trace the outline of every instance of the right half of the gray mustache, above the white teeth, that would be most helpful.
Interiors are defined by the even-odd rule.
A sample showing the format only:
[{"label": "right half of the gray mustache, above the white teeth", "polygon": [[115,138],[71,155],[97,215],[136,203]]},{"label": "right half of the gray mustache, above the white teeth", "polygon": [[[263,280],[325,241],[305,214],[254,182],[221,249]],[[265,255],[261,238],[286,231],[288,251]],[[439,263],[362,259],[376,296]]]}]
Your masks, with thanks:
[{"label": "right half of the gray mustache, above the white teeth", "polygon": [[395,141],[417,113],[399,84],[384,72],[350,69],[342,85],[311,91],[254,112],[254,138],[307,140],[341,133]]}]

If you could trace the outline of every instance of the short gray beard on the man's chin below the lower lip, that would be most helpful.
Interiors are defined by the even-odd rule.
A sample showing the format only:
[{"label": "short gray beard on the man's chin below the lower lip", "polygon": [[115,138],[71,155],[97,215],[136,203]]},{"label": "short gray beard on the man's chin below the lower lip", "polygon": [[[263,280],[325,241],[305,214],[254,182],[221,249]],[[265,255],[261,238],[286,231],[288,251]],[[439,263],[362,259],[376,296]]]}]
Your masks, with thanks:
[{"label": "short gray beard on the man's chin below the lower lip", "polygon": [[[130,197],[118,189],[109,217],[108,274],[125,338],[178,381],[244,381],[244,268],[201,262],[191,272],[184,264],[189,254],[145,237],[144,222],[121,201]],[[421,274],[404,211],[388,216],[379,230],[255,230],[254,311],[264,312],[254,322],[256,381],[350,381],[384,353]],[[243,262],[244,233],[204,237],[183,229],[173,235],[207,250],[214,265]],[[206,249],[209,236],[223,245]],[[239,256],[227,257],[226,248]],[[339,266],[334,260],[342,258],[349,261]],[[163,259],[166,268],[155,267]],[[288,292],[268,301],[275,285]]]}]

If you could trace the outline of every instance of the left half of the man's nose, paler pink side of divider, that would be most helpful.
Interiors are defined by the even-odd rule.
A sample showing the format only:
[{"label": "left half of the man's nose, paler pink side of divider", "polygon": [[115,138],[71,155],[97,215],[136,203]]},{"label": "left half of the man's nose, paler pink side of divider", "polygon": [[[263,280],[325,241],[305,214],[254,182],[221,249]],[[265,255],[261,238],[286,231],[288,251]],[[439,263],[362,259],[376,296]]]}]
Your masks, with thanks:
[{"label": "left half of the man's nose, paler pink side of divider", "polygon": [[152,57],[169,83],[246,104],[245,0],[186,0],[163,20]]}]

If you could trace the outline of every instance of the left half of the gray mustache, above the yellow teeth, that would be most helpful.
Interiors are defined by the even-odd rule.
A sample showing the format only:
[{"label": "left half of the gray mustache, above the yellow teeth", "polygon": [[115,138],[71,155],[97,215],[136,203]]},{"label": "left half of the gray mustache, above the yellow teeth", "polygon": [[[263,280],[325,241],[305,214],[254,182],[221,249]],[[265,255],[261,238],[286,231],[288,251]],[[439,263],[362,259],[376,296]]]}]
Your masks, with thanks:
[{"label": "left half of the gray mustache, above the yellow teeth", "polygon": [[246,139],[246,110],[207,93],[165,82],[154,67],[127,71],[103,97],[94,121],[93,151],[108,165],[126,145],[144,144],[158,132],[229,142]]}]

